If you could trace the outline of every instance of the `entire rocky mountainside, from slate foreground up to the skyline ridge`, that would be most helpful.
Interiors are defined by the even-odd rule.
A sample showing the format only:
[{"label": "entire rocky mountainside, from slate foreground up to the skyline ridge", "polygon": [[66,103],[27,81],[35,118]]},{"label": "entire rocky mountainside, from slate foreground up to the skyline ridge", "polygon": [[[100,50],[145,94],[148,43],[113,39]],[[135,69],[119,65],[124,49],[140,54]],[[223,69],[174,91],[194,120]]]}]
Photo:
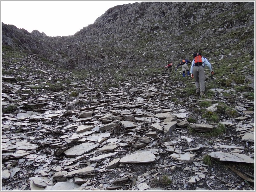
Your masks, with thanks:
[{"label": "entire rocky mountainside, from slate foreground up to the skyline ridge", "polygon": [[[142,2],[68,37],[2,23],[2,190],[255,190],[253,14]],[[204,98],[163,68],[195,49]]]}]

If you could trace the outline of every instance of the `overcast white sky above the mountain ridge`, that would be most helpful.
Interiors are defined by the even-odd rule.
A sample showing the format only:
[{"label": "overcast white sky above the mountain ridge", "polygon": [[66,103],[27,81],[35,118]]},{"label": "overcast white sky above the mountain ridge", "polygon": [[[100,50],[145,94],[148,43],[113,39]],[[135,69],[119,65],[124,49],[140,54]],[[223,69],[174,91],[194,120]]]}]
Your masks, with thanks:
[{"label": "overcast white sky above the mountain ridge", "polygon": [[1,1],[1,22],[47,36],[74,35],[109,8],[141,1]]}]

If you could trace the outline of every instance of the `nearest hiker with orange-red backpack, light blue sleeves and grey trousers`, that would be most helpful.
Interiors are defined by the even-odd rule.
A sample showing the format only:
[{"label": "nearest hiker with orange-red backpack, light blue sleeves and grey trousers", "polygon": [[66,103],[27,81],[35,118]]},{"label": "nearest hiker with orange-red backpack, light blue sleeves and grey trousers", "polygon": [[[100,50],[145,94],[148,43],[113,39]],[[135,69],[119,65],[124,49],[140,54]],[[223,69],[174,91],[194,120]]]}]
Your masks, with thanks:
[{"label": "nearest hiker with orange-red backpack, light blue sleeves and grey trousers", "polygon": [[[202,57],[202,54],[194,53],[193,54],[193,61],[190,68],[191,77],[195,77],[195,85],[196,85],[196,93],[200,93],[200,96],[205,96],[204,94],[204,66],[206,65],[209,70],[211,71],[211,74],[214,74],[214,72],[211,69],[210,62]],[[200,86],[199,86],[200,84]]]}]

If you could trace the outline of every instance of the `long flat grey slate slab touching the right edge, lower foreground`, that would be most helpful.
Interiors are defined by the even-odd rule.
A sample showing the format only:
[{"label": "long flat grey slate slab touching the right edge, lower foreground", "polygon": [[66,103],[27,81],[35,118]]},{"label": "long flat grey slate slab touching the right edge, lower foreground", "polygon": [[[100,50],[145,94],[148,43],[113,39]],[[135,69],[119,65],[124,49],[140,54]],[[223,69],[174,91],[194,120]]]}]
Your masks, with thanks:
[{"label": "long flat grey slate slab touching the right edge, lower foreground", "polygon": [[254,160],[251,157],[240,153],[211,152],[208,155],[212,158],[218,159],[219,161],[254,163]]}]

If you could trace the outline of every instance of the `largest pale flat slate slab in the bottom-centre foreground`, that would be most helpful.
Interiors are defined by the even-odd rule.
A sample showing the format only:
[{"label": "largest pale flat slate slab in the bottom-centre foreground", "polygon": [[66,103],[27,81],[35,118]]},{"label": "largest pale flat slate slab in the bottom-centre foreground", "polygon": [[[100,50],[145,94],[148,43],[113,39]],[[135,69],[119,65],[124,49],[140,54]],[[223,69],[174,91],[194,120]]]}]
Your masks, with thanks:
[{"label": "largest pale flat slate slab in the bottom-centre foreground", "polygon": [[151,163],[155,161],[155,155],[151,151],[134,153],[121,158],[120,163]]}]

